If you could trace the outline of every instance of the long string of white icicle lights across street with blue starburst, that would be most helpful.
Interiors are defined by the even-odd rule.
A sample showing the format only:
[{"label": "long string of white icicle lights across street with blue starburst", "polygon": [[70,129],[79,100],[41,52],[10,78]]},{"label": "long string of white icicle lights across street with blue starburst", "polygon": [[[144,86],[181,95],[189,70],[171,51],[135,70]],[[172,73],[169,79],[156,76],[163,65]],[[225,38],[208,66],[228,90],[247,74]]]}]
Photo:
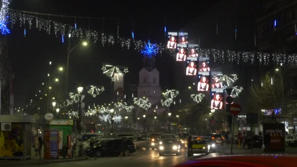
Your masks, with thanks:
[{"label": "long string of white icicle lights across street with blue starburst", "polygon": [[[9,0],[2,0],[2,7],[0,12],[0,30],[2,34],[9,34],[10,31],[7,28],[7,20],[10,18],[13,24],[17,22],[20,23],[21,27],[24,27],[24,35],[26,33],[26,27],[29,29],[33,27],[33,22],[36,22],[36,28],[39,31],[43,31],[50,35],[51,31],[54,31],[57,37],[62,37],[64,42],[65,34],[71,34],[71,38],[77,38],[81,41],[88,40],[89,42],[97,42],[101,40],[103,46],[110,46],[117,43],[122,47],[122,49],[133,49],[141,52],[146,57],[156,56],[158,53],[168,54],[175,57],[176,50],[168,49],[164,43],[146,43],[141,40],[131,40],[119,36],[107,35],[106,33],[99,33],[96,30],[91,30],[88,28],[81,28],[75,24],[64,24],[62,21],[53,21],[50,19],[43,19],[33,15],[27,15],[22,12],[8,12]],[[9,15],[9,16],[8,16]],[[62,16],[60,16],[62,18]],[[55,17],[56,18],[56,17]],[[27,26],[26,26],[27,25]],[[134,34],[135,35],[135,34]],[[100,39],[99,39],[100,38]],[[233,63],[258,63],[259,65],[268,65],[270,63],[280,64],[289,63],[295,65],[296,56],[295,55],[284,55],[276,53],[262,53],[262,52],[240,52],[240,51],[230,51],[230,50],[220,50],[220,49],[208,49],[208,48],[198,48],[197,53],[202,57],[210,57],[213,62],[233,62]],[[286,61],[286,57],[288,60]],[[272,62],[270,62],[272,60]],[[108,74],[106,74],[108,75]]]}]

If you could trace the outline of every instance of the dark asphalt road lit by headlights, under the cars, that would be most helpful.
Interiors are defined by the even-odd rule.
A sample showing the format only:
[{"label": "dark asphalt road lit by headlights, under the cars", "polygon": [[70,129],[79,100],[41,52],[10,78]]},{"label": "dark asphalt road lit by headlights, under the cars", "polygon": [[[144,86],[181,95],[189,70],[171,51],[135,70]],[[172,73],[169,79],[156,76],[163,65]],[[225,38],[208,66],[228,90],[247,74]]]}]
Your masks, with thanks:
[{"label": "dark asphalt road lit by headlights, under the cars", "polygon": [[[217,146],[213,152],[207,157],[217,157],[221,155],[230,155],[231,145]],[[234,154],[251,154],[252,149],[238,148],[238,145],[233,146]],[[253,149],[254,154],[261,154],[262,149]],[[297,153],[297,147],[286,147],[286,153]],[[179,156],[163,155],[159,156],[158,150],[151,149],[137,149],[135,153],[128,157],[100,157],[96,160],[89,158],[84,161],[73,161],[64,163],[52,163],[43,165],[21,165],[20,167],[172,167],[177,164],[185,163],[187,161],[197,160],[206,157],[204,154],[195,154],[195,156],[188,158],[187,149],[182,148]]]}]

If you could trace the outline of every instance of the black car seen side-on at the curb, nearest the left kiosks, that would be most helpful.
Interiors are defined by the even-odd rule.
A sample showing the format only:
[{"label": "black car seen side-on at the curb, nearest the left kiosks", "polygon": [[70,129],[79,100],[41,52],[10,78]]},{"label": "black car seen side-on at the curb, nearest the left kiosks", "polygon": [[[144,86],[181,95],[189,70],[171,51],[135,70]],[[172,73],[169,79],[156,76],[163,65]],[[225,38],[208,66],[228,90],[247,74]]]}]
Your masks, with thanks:
[{"label": "black car seen side-on at the curb, nearest the left kiosks", "polygon": [[[94,151],[96,157],[101,157],[104,155],[120,155],[122,152],[122,143],[124,142],[124,139],[111,139],[111,140],[105,140],[105,141],[100,141],[96,144],[94,144]],[[133,142],[129,141],[129,145],[127,146],[127,153],[125,154],[130,154],[136,151],[135,145]],[[86,150],[86,155],[90,156],[90,147],[87,147]]]}]

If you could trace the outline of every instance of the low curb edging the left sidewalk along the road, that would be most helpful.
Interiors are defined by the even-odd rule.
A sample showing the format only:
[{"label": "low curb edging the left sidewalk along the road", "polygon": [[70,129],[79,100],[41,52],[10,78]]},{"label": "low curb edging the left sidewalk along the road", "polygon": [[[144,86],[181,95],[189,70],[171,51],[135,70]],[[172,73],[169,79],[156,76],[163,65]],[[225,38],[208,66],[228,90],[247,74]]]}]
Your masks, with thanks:
[{"label": "low curb edging the left sidewalk along the road", "polygon": [[[7,166],[7,165],[42,165],[42,164],[52,164],[52,163],[62,163],[62,162],[73,162],[73,161],[83,161],[87,160],[88,157],[84,158],[74,158],[74,159],[59,159],[59,160],[37,160],[31,161],[24,160],[20,162],[12,162],[12,163],[0,163],[0,166]],[[1,162],[1,161],[0,161]]]}]

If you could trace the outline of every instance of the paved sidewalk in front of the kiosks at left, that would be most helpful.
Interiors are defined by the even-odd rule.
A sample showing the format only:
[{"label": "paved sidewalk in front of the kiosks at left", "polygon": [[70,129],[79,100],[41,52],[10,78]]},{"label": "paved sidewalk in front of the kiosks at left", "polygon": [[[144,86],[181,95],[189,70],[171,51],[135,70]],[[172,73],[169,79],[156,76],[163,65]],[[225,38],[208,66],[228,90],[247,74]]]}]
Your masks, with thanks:
[{"label": "paved sidewalk in front of the kiosks at left", "polygon": [[7,166],[7,165],[41,165],[41,164],[49,164],[49,163],[61,163],[61,162],[71,162],[71,161],[82,161],[88,159],[87,157],[74,157],[68,158],[65,157],[63,159],[62,156],[59,156],[59,159],[50,159],[45,160],[43,159],[43,150],[41,154],[41,160],[39,159],[39,155],[35,156],[34,148],[31,149],[31,158],[28,160],[0,160],[0,166]]}]

